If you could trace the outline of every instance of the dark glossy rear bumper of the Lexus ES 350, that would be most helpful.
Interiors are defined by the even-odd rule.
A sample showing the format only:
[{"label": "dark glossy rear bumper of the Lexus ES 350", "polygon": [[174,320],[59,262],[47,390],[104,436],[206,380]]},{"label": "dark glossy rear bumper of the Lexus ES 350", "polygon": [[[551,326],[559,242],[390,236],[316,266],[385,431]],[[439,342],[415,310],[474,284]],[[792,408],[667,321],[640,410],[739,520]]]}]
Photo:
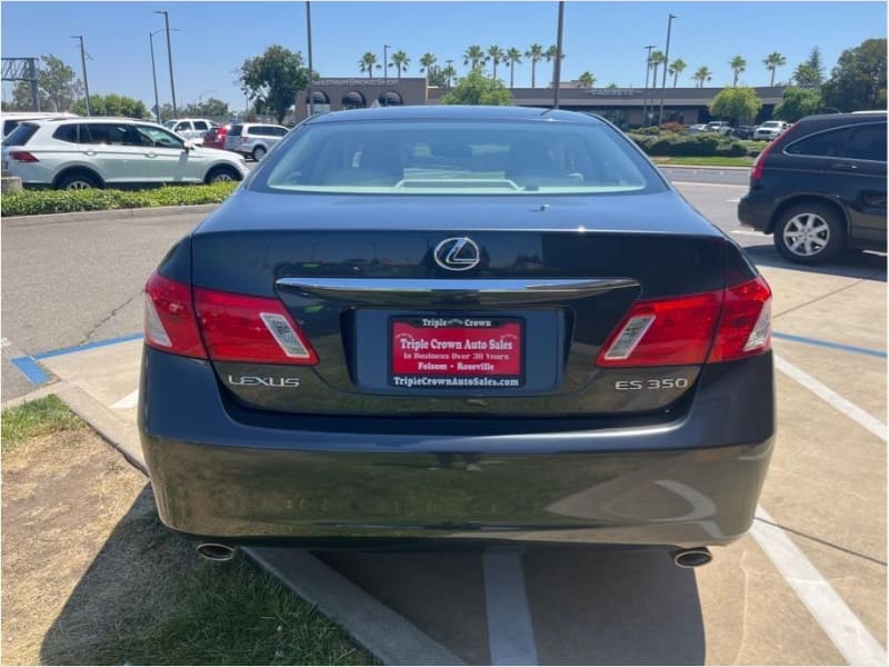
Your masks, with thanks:
[{"label": "dark glossy rear bumper of the Lexus ES 350", "polygon": [[770,355],[721,366],[671,421],[513,420],[491,432],[469,420],[260,415],[230,402],[207,362],[149,349],[139,427],[160,517],[190,535],[723,545],[752,522],[775,405]]}]

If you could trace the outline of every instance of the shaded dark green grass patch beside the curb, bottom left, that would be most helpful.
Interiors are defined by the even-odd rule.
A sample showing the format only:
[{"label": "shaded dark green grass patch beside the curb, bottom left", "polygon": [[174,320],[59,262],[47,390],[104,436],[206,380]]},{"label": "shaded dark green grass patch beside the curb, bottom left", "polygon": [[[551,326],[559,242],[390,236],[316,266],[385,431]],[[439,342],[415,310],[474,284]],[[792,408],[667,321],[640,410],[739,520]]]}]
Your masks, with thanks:
[{"label": "shaded dark green grass patch beside the curb, bottom left", "polygon": [[183,574],[153,623],[94,646],[96,664],[371,665],[346,634],[246,557]]}]

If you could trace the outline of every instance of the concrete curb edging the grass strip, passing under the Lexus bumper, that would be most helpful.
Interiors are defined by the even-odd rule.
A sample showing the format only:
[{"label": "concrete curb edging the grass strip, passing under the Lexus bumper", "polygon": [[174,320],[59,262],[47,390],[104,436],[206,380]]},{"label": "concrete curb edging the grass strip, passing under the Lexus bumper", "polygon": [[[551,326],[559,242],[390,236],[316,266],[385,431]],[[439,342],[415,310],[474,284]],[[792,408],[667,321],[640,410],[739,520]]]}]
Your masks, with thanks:
[{"label": "concrete curb edging the grass strip, passing under the Lexus bumper", "polygon": [[[11,399],[7,406],[56,394],[133,467],[148,475],[136,429],[81,388],[61,381]],[[273,577],[343,627],[386,665],[466,665],[412,623],[303,549],[243,551]]]}]

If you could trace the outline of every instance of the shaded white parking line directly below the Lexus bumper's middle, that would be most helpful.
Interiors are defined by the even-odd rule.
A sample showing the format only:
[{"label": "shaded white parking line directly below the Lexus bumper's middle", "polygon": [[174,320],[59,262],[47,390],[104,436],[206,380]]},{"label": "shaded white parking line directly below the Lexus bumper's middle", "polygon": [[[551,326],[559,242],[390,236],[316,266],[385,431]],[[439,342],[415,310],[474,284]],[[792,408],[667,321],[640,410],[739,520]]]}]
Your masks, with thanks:
[{"label": "shaded white parking line directly below the Lexus bumper's middle", "polygon": [[486,549],[485,599],[491,665],[537,665],[537,644],[525,590],[523,549]]}]

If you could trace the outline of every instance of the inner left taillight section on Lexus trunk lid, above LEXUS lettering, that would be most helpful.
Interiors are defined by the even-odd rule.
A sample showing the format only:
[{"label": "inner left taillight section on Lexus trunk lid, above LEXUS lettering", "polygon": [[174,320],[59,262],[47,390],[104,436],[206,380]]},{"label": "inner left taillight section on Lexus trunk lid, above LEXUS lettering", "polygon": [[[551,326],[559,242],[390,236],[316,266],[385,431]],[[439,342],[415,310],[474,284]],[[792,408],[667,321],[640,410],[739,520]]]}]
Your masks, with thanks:
[{"label": "inner left taillight section on Lexus trunk lid, above LEXUS lettering", "polygon": [[278,299],[194,288],[210,358],[253,364],[318,364],[318,355]]}]

